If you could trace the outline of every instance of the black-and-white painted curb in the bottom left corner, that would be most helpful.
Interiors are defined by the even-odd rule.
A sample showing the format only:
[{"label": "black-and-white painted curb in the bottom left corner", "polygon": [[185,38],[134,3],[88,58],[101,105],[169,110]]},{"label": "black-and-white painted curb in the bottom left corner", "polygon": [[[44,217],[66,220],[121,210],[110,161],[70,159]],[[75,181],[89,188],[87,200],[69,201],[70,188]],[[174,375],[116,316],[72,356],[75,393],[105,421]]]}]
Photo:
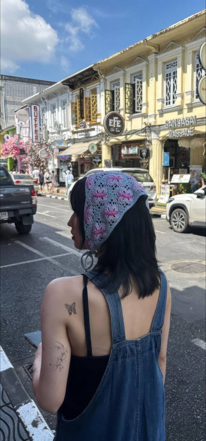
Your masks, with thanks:
[{"label": "black-and-white painted curb in the bottom left corner", "polygon": [[[1,384],[3,385],[6,395],[9,397],[9,405],[4,405],[6,410],[13,411],[13,415],[16,416],[16,422],[14,417],[10,419],[10,424],[14,427],[15,423],[19,427],[22,424],[23,428],[27,431],[31,441],[53,441],[54,434],[47,425],[38,407],[31,400],[26,389],[24,389],[18,375],[15,372],[14,366],[10,363],[7,355],[0,346],[0,373]],[[3,415],[3,411],[2,411]],[[8,415],[8,414],[7,414]],[[12,423],[11,423],[12,421]],[[1,422],[1,424],[4,424]],[[20,439],[20,438],[19,438]],[[26,439],[25,437],[22,439]]]}]

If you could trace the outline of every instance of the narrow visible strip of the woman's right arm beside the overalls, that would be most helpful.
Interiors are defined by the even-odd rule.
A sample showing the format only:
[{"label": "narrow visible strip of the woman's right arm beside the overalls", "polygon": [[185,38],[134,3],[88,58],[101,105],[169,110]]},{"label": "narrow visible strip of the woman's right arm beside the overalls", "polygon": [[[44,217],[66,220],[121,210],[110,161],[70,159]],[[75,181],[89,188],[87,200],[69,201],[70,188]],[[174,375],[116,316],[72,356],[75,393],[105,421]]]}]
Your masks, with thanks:
[{"label": "narrow visible strip of the woman's right arm beside the overalls", "polygon": [[171,291],[168,285],[167,302],[166,302],[166,309],[164,314],[164,325],[162,327],[161,348],[159,355],[159,366],[164,381],[165,381],[165,373],[166,373],[166,361],[167,361],[166,355],[167,355],[168,335],[169,335],[169,327],[170,327],[170,314],[171,314]]}]

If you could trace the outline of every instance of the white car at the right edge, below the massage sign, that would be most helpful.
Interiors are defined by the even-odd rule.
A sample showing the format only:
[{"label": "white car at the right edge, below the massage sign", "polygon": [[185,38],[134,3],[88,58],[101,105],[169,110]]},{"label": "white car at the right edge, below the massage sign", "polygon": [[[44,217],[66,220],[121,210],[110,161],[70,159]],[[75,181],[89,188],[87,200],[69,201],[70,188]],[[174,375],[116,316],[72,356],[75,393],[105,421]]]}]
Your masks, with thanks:
[{"label": "white car at the right edge, below the massage sign", "polygon": [[183,233],[188,226],[206,226],[206,186],[194,193],[176,194],[167,203],[167,221],[173,230]]}]

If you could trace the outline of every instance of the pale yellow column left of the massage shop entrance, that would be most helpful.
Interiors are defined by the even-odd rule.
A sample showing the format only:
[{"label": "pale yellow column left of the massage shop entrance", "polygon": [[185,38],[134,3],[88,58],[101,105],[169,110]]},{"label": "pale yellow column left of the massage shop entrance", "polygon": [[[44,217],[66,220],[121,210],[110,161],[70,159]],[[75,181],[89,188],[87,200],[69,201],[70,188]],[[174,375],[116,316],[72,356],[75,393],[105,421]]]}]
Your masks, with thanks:
[{"label": "pale yellow column left of the massage shop entrance", "polygon": [[156,185],[157,198],[160,196],[160,185],[163,177],[163,143],[157,132],[151,133],[152,146],[149,156],[149,174]]}]

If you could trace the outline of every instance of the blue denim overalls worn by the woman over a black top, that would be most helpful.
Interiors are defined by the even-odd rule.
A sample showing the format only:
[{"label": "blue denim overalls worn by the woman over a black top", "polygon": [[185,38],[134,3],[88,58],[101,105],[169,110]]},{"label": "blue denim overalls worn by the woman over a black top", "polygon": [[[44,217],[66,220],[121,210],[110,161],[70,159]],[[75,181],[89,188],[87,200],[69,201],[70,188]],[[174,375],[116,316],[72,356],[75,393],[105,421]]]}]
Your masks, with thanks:
[{"label": "blue denim overalls worn by the woman over a black top", "polygon": [[[95,272],[87,272],[89,279]],[[126,340],[118,292],[100,288],[111,313],[112,347],[103,378],[86,409],[75,419],[57,413],[55,441],[165,441],[163,376],[158,364],[167,280],[161,288],[151,332]],[[100,287],[107,277],[92,280]]]}]

